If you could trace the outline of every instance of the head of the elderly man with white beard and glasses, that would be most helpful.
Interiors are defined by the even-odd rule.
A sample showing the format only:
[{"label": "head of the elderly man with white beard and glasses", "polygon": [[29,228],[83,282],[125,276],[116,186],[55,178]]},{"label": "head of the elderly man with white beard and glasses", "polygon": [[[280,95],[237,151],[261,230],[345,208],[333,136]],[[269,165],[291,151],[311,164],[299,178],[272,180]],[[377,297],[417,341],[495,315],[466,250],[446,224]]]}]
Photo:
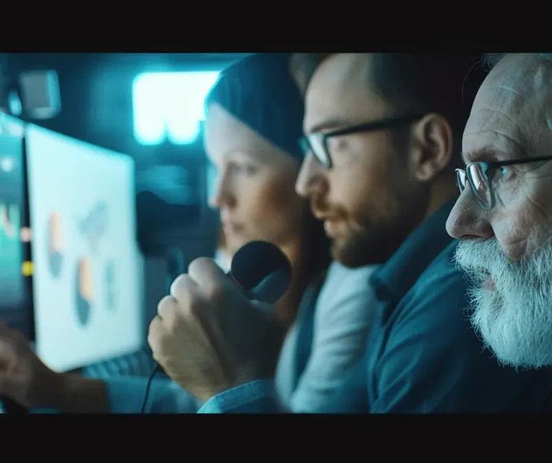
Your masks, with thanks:
[{"label": "head of the elderly man with white beard and glasses", "polygon": [[472,322],[497,360],[552,365],[552,54],[489,55],[447,222]]}]

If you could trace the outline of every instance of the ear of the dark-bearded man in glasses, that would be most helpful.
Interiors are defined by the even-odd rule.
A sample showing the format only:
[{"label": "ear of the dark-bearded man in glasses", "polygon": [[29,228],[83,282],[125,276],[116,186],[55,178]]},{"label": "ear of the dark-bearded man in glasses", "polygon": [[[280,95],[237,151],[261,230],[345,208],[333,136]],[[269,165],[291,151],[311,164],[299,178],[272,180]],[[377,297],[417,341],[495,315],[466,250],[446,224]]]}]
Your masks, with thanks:
[{"label": "ear of the dark-bearded man in glasses", "polygon": [[440,114],[426,114],[418,121],[411,142],[411,169],[418,181],[432,181],[451,163],[453,130]]}]

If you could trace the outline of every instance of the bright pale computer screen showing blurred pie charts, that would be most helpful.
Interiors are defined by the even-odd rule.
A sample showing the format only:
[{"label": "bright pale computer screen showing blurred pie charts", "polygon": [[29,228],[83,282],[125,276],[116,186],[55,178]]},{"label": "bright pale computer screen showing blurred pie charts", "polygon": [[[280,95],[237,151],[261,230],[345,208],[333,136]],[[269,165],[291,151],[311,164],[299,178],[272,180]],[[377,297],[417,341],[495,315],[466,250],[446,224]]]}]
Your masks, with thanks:
[{"label": "bright pale computer screen showing blurred pie charts", "polygon": [[144,345],[132,158],[26,130],[36,351],[68,371]]}]

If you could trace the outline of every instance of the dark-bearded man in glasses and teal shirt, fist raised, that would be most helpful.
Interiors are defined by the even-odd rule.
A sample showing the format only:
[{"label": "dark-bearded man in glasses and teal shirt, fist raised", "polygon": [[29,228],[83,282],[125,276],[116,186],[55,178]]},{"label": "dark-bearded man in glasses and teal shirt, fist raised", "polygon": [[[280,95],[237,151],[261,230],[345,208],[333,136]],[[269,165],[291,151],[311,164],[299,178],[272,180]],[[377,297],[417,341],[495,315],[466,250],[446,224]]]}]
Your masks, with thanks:
[{"label": "dark-bearded man in glasses and teal shirt, fist raised", "polygon": [[[551,373],[502,367],[471,329],[466,282],[453,263],[457,243],[445,230],[457,199],[454,152],[468,113],[462,88],[467,90],[474,61],[444,54],[301,60],[306,114],[300,143],[306,157],[297,192],[310,198],[313,213],[324,220],[337,260],[348,267],[382,264],[371,278],[378,314],[365,357],[342,390],[328,398],[327,411],[549,409]],[[538,76],[544,79],[542,72]],[[500,105],[505,96],[498,96],[482,104]],[[488,123],[480,117],[479,125]],[[509,145],[506,137],[500,143],[520,145],[514,135]],[[464,193],[459,203],[470,205],[466,214],[475,214],[471,198]],[[535,214],[542,211],[537,205]],[[482,227],[481,220],[473,224]],[[150,325],[155,359],[205,402],[200,412],[279,411],[266,369],[275,361],[266,345],[273,329],[270,311],[246,300],[210,260],[196,260],[188,272],[173,283]]]}]

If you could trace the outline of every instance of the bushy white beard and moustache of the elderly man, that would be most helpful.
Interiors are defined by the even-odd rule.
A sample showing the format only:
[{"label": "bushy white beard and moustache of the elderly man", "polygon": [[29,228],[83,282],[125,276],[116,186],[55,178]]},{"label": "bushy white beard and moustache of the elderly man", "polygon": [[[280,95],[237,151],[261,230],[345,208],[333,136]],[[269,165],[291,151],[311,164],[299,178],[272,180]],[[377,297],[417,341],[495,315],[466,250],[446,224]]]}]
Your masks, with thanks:
[{"label": "bushy white beard and moustache of the elderly man", "polygon": [[455,259],[471,283],[471,322],[497,360],[522,369],[552,365],[552,243],[513,263],[496,238],[465,240]]}]

